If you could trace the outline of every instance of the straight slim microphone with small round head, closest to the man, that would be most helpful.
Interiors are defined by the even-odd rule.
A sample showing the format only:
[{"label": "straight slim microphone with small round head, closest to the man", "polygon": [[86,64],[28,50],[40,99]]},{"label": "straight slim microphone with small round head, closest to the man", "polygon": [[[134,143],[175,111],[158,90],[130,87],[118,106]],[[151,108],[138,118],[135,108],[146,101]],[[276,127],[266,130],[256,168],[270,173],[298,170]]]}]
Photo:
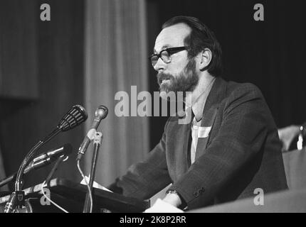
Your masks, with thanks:
[{"label": "straight slim microphone with small round head, closest to the man", "polygon": [[95,119],[93,120],[93,125],[90,127],[90,130],[85,136],[83,143],[81,143],[80,148],[78,149],[77,160],[80,160],[85,154],[88,148],[88,145],[90,144],[90,141],[93,140],[95,136],[97,127],[99,127],[102,119],[106,118],[107,114],[108,114],[108,109],[106,106],[102,106],[102,105],[97,106],[97,109],[95,110]]}]

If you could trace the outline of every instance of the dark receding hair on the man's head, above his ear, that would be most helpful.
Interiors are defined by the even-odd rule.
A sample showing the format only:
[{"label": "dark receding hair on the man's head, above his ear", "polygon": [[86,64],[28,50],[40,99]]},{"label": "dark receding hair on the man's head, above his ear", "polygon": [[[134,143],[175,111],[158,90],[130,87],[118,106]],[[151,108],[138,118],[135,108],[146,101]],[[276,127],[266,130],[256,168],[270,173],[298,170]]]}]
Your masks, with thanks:
[{"label": "dark receding hair on the man's head, above his ear", "polygon": [[184,39],[185,45],[190,47],[188,50],[189,58],[195,57],[199,52],[208,48],[211,50],[212,59],[205,70],[208,70],[214,77],[220,76],[223,68],[222,50],[213,32],[198,18],[191,16],[174,16],[163,24],[162,29],[177,23],[185,23],[191,28],[191,33]]}]

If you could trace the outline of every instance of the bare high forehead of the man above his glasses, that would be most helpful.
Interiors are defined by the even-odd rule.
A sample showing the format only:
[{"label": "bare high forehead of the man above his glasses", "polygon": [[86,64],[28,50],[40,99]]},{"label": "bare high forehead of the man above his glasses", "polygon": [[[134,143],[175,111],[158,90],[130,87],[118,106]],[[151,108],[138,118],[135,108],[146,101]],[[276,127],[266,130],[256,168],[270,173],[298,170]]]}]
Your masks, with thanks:
[{"label": "bare high forehead of the man above his glasses", "polygon": [[191,28],[185,23],[177,23],[174,26],[164,28],[155,40],[154,52],[165,48],[184,46],[184,38],[189,35]]}]

